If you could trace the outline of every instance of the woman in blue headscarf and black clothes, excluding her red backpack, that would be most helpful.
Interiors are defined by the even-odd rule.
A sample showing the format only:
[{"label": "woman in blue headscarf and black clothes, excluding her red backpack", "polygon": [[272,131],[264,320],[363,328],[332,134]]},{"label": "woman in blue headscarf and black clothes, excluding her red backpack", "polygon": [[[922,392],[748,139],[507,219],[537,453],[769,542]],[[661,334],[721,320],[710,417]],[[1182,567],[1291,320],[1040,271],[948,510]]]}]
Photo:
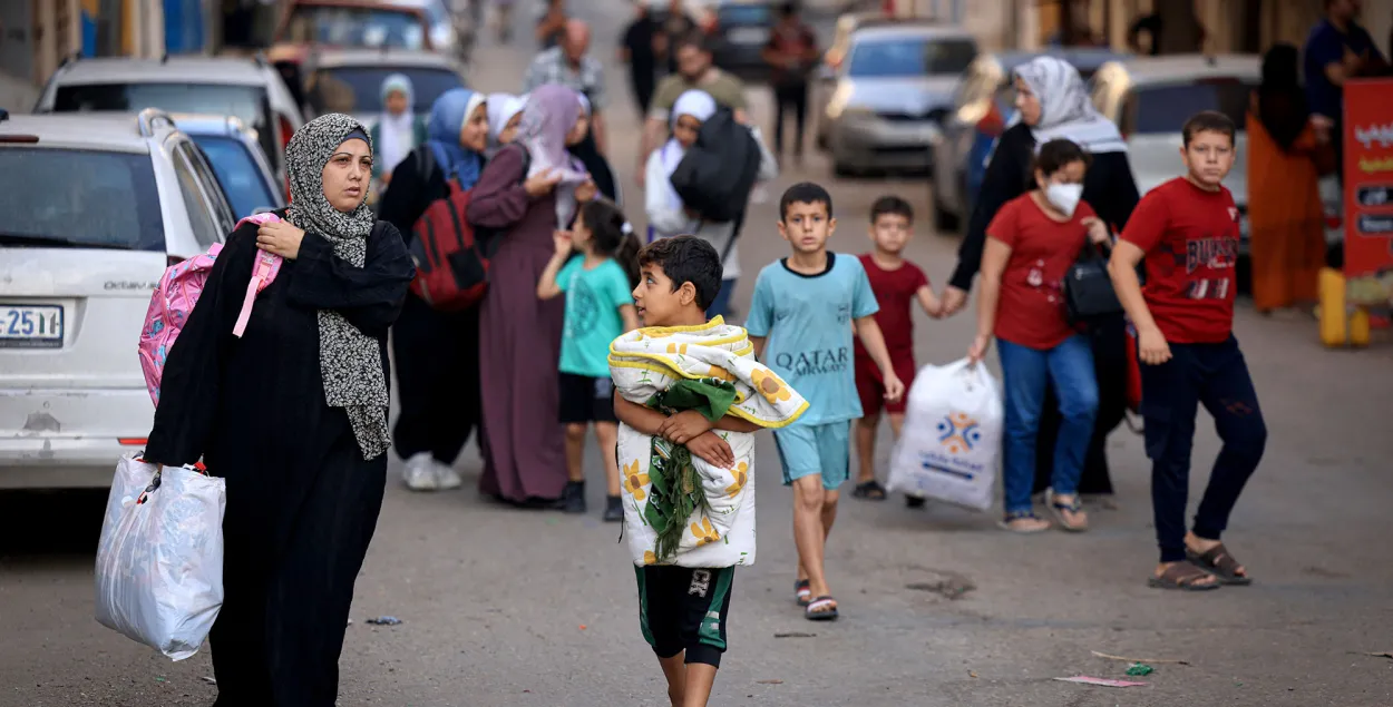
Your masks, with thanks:
[{"label": "woman in blue headscarf and black clothes, excluding her red backpack", "polygon": [[[450,196],[450,181],[471,189],[483,170],[489,120],[483,93],[450,89],[436,99],[429,139],[397,166],[380,216],[411,242],[432,203]],[[411,294],[393,327],[397,416],[393,438],[414,491],[457,488],[454,461],[479,420],[479,310],[442,312]]]}]

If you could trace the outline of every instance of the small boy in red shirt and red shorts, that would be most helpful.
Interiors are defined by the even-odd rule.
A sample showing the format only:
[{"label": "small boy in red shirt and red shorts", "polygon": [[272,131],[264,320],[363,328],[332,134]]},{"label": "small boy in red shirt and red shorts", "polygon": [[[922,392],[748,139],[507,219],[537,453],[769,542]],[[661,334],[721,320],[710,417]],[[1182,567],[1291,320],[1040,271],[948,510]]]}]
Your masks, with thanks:
[{"label": "small boy in red shirt and red shorts", "polygon": [[[861,266],[865,267],[871,291],[880,305],[875,321],[885,335],[894,374],[904,381],[905,390],[914,383],[914,320],[910,316],[914,301],[918,299],[919,306],[931,317],[943,316],[943,305],[929,288],[929,278],[924,276],[924,270],[900,255],[911,235],[914,235],[914,209],[910,207],[910,202],[898,196],[876,199],[871,206],[871,242],[875,248],[861,255]],[[857,423],[857,455],[861,459],[861,472],[853,495],[883,501],[885,487],[875,477],[875,433],[880,426],[883,408],[890,418],[890,430],[896,438],[900,437],[904,402],[908,395],[897,402],[886,402],[880,369],[861,345],[859,338],[855,340],[854,351],[862,418]],[[924,498],[919,497],[911,495],[905,501],[911,508],[924,505]]]}]

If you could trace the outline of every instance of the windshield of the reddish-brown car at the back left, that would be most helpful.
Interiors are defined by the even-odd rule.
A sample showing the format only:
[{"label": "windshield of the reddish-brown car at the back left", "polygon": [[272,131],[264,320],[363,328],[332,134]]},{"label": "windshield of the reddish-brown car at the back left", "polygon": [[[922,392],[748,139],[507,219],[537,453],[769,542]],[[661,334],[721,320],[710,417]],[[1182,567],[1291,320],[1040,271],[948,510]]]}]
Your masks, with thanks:
[{"label": "windshield of the reddish-brown car at the back left", "polygon": [[344,47],[426,49],[419,15],[387,7],[297,6],[283,40]]}]

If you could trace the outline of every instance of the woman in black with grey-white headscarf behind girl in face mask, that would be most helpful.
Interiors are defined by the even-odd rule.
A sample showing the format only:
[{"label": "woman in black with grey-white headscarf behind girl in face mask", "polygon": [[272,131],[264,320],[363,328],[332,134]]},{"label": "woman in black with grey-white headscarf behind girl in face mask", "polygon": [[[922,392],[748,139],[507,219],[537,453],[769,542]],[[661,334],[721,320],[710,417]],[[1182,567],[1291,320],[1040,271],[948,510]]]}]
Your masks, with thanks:
[{"label": "woman in black with grey-white headscarf behind girl in face mask", "polygon": [[[1015,89],[1021,121],[1002,134],[986,167],[986,177],[968,221],[967,238],[958,248],[957,269],[943,294],[944,312],[950,315],[963,309],[967,302],[972,278],[982,264],[988,224],[1003,205],[1031,188],[1029,166],[1036,145],[1066,138],[1088,150],[1092,166],[1084,177],[1082,199],[1094,206],[1098,217],[1113,232],[1127,225],[1137,206],[1137,184],[1127,160],[1127,143],[1117,127],[1089,103],[1078,70],[1055,57],[1039,57],[1015,70]],[[1078,493],[1112,494],[1106,443],[1107,434],[1127,415],[1127,324],[1121,315],[1100,317],[1091,321],[1088,335],[1094,349],[1099,405]],[[1049,487],[1053,470],[1053,440],[1060,424],[1053,388],[1046,395],[1043,411],[1036,444],[1036,493]]]}]

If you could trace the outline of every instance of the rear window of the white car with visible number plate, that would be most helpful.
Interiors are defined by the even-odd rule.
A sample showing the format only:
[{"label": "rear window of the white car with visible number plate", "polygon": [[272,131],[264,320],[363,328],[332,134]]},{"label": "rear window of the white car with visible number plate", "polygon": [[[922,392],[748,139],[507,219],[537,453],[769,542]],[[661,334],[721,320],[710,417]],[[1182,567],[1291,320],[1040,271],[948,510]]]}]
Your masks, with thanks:
[{"label": "rear window of the white car with visible number plate", "polygon": [[149,154],[0,148],[0,246],[164,252]]}]

